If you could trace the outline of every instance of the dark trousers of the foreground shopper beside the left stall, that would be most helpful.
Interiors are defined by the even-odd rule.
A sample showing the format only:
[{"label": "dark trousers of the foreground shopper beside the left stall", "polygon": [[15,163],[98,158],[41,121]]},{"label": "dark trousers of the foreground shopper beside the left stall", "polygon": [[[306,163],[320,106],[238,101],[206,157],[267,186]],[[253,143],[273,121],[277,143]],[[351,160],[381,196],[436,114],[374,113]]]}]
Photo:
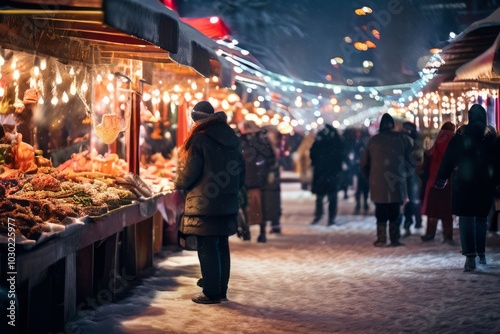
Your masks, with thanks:
[{"label": "dark trousers of the foreground shopper beside the left stall", "polygon": [[227,294],[231,258],[227,236],[197,236],[203,293],[214,299]]}]

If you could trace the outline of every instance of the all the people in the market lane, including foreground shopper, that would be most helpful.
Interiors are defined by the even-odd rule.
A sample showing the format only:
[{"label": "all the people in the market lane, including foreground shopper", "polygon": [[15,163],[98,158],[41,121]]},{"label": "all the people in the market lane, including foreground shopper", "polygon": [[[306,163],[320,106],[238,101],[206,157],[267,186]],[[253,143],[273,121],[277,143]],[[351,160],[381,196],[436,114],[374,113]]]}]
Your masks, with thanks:
[{"label": "all the people in the market lane, including foreground shopper", "polygon": [[[197,240],[203,292],[192,300],[219,303],[226,299],[230,274],[228,237],[237,233],[249,241],[250,226],[258,225],[256,241],[265,243],[268,222],[269,233],[281,233],[281,135],[253,121],[235,131],[225,113],[206,101],[191,116],[195,125],[180,151],[175,180],[186,192],[179,231]],[[476,258],[486,265],[488,217],[490,231],[498,230],[500,140],[481,105],[474,104],[467,116],[459,127],[445,122],[430,147],[422,145],[414,123],[388,113],[371,136],[359,129],[340,134],[330,125],[307,134],[297,149],[297,166],[301,188],[316,196],[311,224],[321,222],[326,198],[326,224],[334,225],[338,198],[355,187],[354,214],[368,214],[369,200],[374,206],[374,246],[403,246],[412,225],[423,227],[422,216],[422,242],[434,240],[441,221],[443,242],[454,244],[457,216],[464,271],[475,270]]]}]

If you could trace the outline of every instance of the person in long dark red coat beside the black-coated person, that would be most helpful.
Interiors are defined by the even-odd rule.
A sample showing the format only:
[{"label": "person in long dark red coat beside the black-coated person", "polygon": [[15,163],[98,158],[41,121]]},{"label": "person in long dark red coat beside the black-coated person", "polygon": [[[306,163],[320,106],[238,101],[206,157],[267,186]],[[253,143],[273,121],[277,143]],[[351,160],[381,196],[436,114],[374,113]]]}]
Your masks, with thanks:
[{"label": "person in long dark red coat beside the black-coated person", "polygon": [[447,182],[443,189],[434,187],[439,165],[444,157],[446,147],[455,134],[455,125],[446,122],[441,126],[434,145],[425,152],[422,169],[427,174],[422,214],[427,216],[427,228],[422,241],[434,240],[437,223],[443,224],[443,242],[453,244],[453,215],[451,212],[451,182]]}]

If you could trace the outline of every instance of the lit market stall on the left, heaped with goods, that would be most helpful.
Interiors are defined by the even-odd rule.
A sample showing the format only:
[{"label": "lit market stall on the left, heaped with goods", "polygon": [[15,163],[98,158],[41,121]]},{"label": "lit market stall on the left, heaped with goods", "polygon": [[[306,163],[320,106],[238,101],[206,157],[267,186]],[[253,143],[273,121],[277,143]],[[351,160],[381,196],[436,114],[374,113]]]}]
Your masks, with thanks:
[{"label": "lit market stall on the left, heaped with goods", "polygon": [[155,90],[153,73],[201,80],[218,65],[155,3],[127,1],[156,13],[148,27],[159,34],[141,38],[113,28],[113,1],[1,10],[0,265],[2,286],[15,280],[17,332],[63,330],[78,310],[112,301],[147,274],[163,221],[178,215],[175,164],[164,161],[161,186],[141,167],[146,88]]}]

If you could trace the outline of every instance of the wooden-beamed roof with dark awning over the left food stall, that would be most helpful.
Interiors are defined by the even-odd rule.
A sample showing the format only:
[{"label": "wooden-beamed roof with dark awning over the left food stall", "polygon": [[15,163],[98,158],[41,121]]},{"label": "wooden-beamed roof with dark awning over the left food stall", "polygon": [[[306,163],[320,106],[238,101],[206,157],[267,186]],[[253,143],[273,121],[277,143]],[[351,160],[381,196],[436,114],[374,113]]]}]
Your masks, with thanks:
[{"label": "wooden-beamed roof with dark awning over the left food stall", "polygon": [[181,64],[206,77],[220,71],[217,44],[156,0],[68,1],[79,7],[59,10],[41,8],[48,1],[20,2],[32,8],[0,9],[3,48],[89,64],[125,58],[172,63],[184,71]]}]

